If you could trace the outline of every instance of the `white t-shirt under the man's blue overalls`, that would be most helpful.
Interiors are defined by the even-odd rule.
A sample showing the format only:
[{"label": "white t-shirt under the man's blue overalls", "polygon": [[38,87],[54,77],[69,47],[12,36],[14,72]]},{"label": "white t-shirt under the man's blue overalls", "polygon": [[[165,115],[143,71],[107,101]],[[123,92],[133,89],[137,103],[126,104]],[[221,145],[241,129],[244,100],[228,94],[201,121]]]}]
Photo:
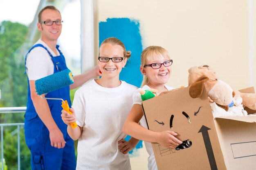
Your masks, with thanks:
[{"label": "white t-shirt under the man's blue overalls", "polygon": [[[45,46],[50,51],[53,57],[60,55],[58,50],[58,55],[55,55],[55,53],[49,48],[49,46],[47,46],[47,44],[45,44],[45,42],[43,42],[42,40],[38,40],[35,44],[42,44],[43,46]],[[27,55],[26,67],[29,80],[37,80],[48,75],[52,75],[54,73],[54,64],[52,62],[52,57],[43,47],[40,46],[32,49]]]}]

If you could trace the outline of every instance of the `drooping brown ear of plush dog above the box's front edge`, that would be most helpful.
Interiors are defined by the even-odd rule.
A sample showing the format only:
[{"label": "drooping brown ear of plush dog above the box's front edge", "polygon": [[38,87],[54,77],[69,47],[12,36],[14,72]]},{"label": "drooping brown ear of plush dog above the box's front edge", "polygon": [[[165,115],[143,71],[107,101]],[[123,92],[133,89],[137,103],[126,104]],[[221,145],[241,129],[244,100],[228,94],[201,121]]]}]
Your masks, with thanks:
[{"label": "drooping brown ear of plush dog above the box's front edge", "polygon": [[206,82],[207,80],[209,80],[209,78],[206,77],[205,75],[202,75],[201,77],[199,77],[196,80],[196,82],[191,84],[191,86],[189,88],[190,97],[192,97],[192,98],[200,97],[203,93],[204,82]]}]

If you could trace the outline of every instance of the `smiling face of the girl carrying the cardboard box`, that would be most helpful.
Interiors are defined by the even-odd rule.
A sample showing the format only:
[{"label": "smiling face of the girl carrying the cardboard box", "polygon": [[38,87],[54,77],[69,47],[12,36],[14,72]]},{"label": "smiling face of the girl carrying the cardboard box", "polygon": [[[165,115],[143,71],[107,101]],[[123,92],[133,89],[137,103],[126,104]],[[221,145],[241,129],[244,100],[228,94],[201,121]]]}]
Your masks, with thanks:
[{"label": "smiling face of the girl carrying the cardboard box", "polygon": [[[146,64],[152,63],[164,63],[170,59],[166,59],[162,55],[155,56],[154,59],[146,61]],[[141,73],[148,76],[148,84],[159,86],[166,84],[171,76],[171,66],[162,66],[157,69],[153,69],[150,66],[141,67]]]}]

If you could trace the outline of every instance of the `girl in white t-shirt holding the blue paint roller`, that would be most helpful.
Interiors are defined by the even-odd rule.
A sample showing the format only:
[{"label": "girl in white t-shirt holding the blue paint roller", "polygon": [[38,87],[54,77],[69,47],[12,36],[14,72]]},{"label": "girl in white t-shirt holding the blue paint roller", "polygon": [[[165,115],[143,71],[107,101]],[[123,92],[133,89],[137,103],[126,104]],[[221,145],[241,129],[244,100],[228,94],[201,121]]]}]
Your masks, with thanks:
[{"label": "girl in white t-shirt holding the blue paint roller", "polygon": [[[137,87],[119,80],[130,51],[117,38],[107,38],[99,48],[101,78],[79,88],[71,109],[62,110],[67,132],[78,141],[76,170],[130,170],[128,151],[139,140],[124,140],[124,121],[132,107],[132,93]],[[74,111],[75,110],[75,111]],[[78,124],[72,129],[70,123]],[[121,151],[120,151],[121,150]]]}]

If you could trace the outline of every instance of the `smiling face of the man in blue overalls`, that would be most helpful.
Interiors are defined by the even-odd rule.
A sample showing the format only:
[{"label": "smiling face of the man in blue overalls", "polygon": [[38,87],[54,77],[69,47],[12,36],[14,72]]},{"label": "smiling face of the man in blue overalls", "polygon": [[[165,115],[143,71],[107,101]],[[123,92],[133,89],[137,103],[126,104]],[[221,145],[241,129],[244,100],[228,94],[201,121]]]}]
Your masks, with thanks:
[{"label": "smiling face of the man in blue overalls", "polygon": [[[41,21],[56,21],[61,20],[61,14],[53,9],[45,9],[41,15]],[[57,41],[61,35],[62,25],[56,25],[54,22],[52,25],[45,25],[44,23],[37,23],[39,31],[41,31],[41,39],[44,42]]]}]

